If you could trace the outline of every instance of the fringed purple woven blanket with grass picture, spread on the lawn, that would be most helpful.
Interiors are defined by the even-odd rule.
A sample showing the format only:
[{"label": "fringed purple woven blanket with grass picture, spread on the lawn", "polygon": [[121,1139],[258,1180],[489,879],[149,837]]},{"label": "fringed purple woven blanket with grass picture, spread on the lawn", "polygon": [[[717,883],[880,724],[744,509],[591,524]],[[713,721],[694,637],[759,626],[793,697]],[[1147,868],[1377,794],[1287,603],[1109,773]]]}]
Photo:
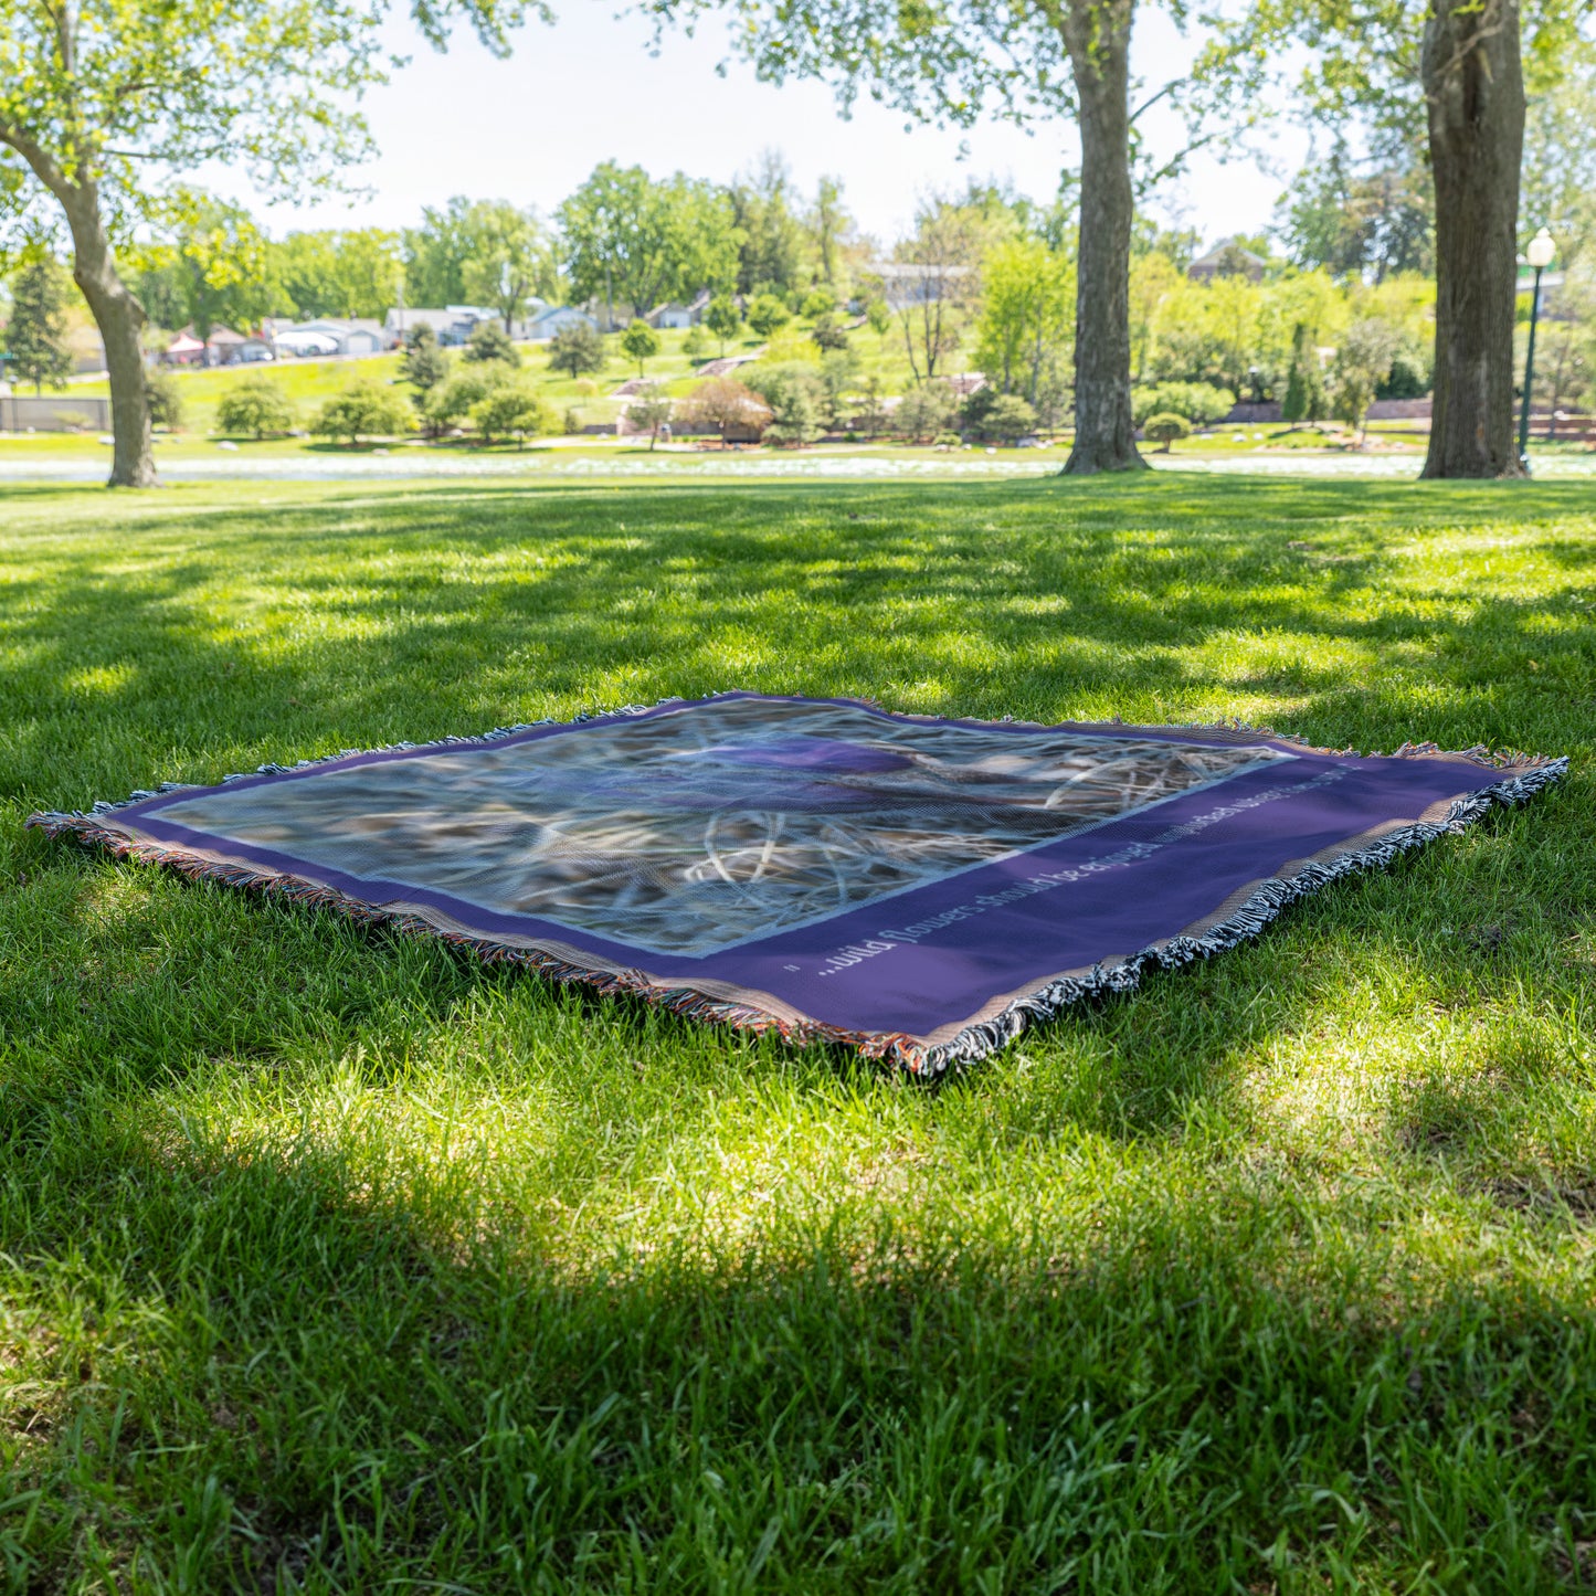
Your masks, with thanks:
[{"label": "fringed purple woven blanket with grass picture, spread on the lawn", "polygon": [[934,1074],[1566,763],[729,693],[29,824]]}]

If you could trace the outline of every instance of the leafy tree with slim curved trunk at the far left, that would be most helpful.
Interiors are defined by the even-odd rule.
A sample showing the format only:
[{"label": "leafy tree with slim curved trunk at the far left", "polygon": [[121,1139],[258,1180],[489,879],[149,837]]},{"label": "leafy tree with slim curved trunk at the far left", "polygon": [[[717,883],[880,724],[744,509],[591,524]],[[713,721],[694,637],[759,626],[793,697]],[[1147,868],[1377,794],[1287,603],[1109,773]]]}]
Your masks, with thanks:
[{"label": "leafy tree with slim curved trunk at the far left", "polygon": [[[536,0],[533,0],[536,5]],[[415,0],[440,45],[466,16],[506,48],[520,0]],[[538,6],[541,10],[541,6]],[[358,99],[391,65],[388,0],[16,0],[0,8],[0,148],[34,212],[54,196],[73,275],[105,343],[112,482],[155,480],[139,334],[118,246],[169,203],[171,179],[223,161],[265,192],[329,184],[370,147]],[[32,182],[18,187],[14,169]]]}]

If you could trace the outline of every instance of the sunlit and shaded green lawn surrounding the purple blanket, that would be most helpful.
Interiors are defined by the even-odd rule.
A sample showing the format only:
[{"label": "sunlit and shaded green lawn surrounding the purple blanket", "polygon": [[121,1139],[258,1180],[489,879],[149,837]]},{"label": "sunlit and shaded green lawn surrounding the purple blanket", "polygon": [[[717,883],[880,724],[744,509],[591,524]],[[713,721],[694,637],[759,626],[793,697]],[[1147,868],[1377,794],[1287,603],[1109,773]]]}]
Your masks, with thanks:
[{"label": "sunlit and shaded green lawn surrounding the purple blanket", "polygon": [[[1588,487],[0,490],[0,1586],[1588,1588]],[[1574,755],[940,1090],[22,832],[745,686]]]}]

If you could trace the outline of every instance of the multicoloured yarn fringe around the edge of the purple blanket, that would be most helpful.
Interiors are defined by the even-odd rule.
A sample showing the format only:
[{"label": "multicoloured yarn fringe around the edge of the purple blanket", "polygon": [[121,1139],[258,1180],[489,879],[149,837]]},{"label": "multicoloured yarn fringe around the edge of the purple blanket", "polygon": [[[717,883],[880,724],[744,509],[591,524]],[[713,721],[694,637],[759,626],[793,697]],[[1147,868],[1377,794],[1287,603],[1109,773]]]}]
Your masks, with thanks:
[{"label": "multicoloured yarn fringe around the edge of the purple blanket", "polygon": [[[712,694],[712,697],[723,696],[733,694]],[[622,709],[576,715],[571,721],[565,721],[563,725],[642,715],[650,709],[681,702],[688,701],[666,697],[656,705],[629,704]],[[868,704],[871,709],[876,707],[865,699],[855,699],[852,702]],[[916,720],[927,717],[902,718]],[[313,760],[298,760],[295,764],[262,764],[259,771],[239,771],[236,774],[225,776],[222,780],[236,782],[247,780],[254,776],[276,776],[289,771],[303,771],[318,764],[330,764],[337,760],[351,758],[358,753],[389,753],[412,749],[448,749],[471,742],[498,742],[504,737],[514,737],[519,733],[531,731],[536,726],[549,725],[555,725],[554,717],[527,721],[517,726],[496,726],[493,731],[484,733],[477,737],[439,737],[434,742],[425,744],[394,742],[381,749],[345,749],[340,753],[329,753]],[[1028,723],[1009,720],[988,721],[988,725],[1017,726]],[[1111,725],[1120,723],[1114,721]],[[1136,729],[1128,723],[1125,725],[1127,729]],[[1267,737],[1277,742],[1298,744],[1304,749],[1309,747],[1301,737],[1269,731],[1266,728],[1248,726],[1238,720],[1191,726],[1162,726],[1157,729],[1189,729],[1207,733],[1224,731],[1231,736]],[[1352,753],[1352,750],[1333,749],[1312,749],[1312,752],[1341,755]],[[656,982],[648,980],[648,977],[640,970],[595,970],[589,966],[571,964],[567,959],[560,959],[536,948],[516,948],[484,937],[439,930],[418,915],[389,911],[372,903],[364,903],[359,899],[353,899],[334,887],[302,881],[297,876],[251,870],[243,865],[212,863],[209,860],[196,859],[193,854],[185,854],[182,849],[140,843],[99,824],[99,820],[105,816],[115,814],[118,809],[124,809],[129,804],[142,803],[145,798],[155,798],[161,793],[180,792],[184,788],[212,784],[163,782],[156,788],[134,792],[120,803],[109,803],[104,800],[97,801],[93,809],[86,812],[73,811],[32,814],[26,820],[26,825],[35,827],[51,838],[70,835],[88,846],[105,849],[118,859],[134,859],[140,863],[163,865],[196,881],[217,881],[231,887],[249,887],[260,892],[270,892],[287,899],[289,902],[305,905],[306,908],[337,910],[358,922],[372,926],[383,924],[409,935],[429,937],[452,946],[464,948],[488,964],[516,964],[530,969],[547,980],[560,983],[576,982],[592,988],[594,991],[606,994],[626,993],[685,1018],[733,1025],[739,1029],[758,1034],[772,1031],[785,1042],[796,1047],[803,1047],[808,1042],[816,1041],[854,1047],[865,1058],[902,1068],[921,1079],[934,1079],[948,1069],[958,1069],[964,1065],[977,1063],[990,1053],[1007,1047],[1025,1029],[1053,1018],[1053,1015],[1071,1004],[1080,1002],[1087,998],[1100,998],[1108,996],[1109,993],[1125,993],[1135,990],[1141,982],[1143,972],[1148,969],[1178,969],[1183,964],[1189,964],[1192,959],[1224,953],[1242,942],[1258,937],[1277,915],[1280,915],[1291,903],[1296,903],[1299,899],[1317,892],[1320,887],[1325,887],[1333,881],[1339,881],[1342,876],[1389,865],[1393,859],[1409,849],[1420,847],[1448,832],[1462,832],[1486,816],[1497,804],[1523,803],[1543,787],[1558,780],[1569,768],[1567,758],[1545,758],[1518,750],[1494,752],[1483,745],[1457,752],[1444,752],[1433,742],[1408,742],[1396,749],[1395,753],[1384,755],[1384,758],[1468,760],[1481,768],[1500,771],[1502,780],[1459,798],[1443,820],[1414,822],[1412,825],[1387,832],[1377,841],[1363,847],[1349,847],[1334,859],[1306,863],[1299,871],[1288,878],[1277,876],[1261,883],[1245,903],[1242,903],[1224,921],[1211,926],[1200,937],[1173,937],[1165,942],[1152,943],[1140,953],[1114,964],[1100,964],[1084,975],[1061,977],[1060,980],[1050,982],[1025,998],[1015,999],[1015,1002],[1009,1004],[1007,1009],[993,1018],[967,1026],[951,1041],[934,1047],[927,1047],[911,1036],[895,1033],[852,1031],[843,1026],[825,1025],[817,1020],[793,1023],[749,1004],[731,1004],[710,998],[691,986],[661,986]]]}]

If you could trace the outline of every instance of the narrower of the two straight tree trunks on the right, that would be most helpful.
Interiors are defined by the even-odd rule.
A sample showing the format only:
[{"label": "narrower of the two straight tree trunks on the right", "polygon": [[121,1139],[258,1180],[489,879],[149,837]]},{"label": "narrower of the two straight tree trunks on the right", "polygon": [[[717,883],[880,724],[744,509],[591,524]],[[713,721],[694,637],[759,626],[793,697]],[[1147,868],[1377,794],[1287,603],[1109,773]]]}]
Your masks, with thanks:
[{"label": "narrower of the two straight tree trunks on the right", "polygon": [[1146,468],[1130,415],[1132,3],[1071,0],[1063,16],[1080,117],[1076,444],[1068,476]]}]

